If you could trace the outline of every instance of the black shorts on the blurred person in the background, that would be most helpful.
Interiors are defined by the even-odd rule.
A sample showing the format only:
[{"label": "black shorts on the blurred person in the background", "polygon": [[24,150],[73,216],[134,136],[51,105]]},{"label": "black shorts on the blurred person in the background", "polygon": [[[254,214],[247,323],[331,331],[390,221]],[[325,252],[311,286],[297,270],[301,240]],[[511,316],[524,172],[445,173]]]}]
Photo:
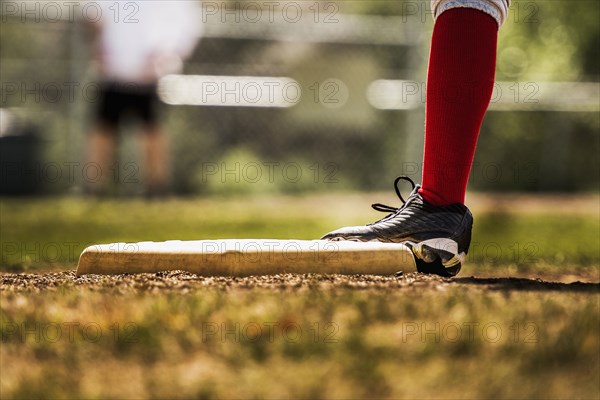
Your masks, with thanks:
[{"label": "black shorts on the blurred person in the background", "polygon": [[159,104],[156,84],[104,82],[100,84],[96,118],[111,129],[129,117],[154,125]]}]

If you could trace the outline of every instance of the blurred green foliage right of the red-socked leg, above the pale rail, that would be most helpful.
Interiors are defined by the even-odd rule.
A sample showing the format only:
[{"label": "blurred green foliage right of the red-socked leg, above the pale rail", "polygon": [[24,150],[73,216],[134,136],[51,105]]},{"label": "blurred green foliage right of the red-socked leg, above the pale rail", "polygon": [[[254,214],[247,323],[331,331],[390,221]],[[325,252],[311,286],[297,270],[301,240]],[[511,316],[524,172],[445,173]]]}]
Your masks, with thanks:
[{"label": "blurred green foliage right of the red-socked leg, above the pale rail", "polygon": [[500,31],[499,80],[597,81],[597,2],[513,2]]}]

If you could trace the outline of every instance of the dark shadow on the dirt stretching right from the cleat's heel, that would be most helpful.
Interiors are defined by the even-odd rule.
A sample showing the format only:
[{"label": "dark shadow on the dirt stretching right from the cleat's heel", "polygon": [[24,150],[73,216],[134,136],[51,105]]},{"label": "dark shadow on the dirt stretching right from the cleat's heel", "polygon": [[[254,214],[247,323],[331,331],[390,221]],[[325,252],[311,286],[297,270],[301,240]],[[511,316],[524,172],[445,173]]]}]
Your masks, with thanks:
[{"label": "dark shadow on the dirt stretching right from the cleat's heel", "polygon": [[465,285],[486,285],[492,290],[527,290],[600,293],[600,283],[588,282],[546,282],[528,278],[454,278],[453,282]]}]

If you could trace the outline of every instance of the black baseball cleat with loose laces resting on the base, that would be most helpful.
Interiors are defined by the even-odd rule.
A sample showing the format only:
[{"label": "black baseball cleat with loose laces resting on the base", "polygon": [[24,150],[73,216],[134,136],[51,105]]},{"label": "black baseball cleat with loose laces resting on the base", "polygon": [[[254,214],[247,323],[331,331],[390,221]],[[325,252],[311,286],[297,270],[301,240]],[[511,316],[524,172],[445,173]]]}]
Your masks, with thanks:
[{"label": "black baseball cleat with loose laces resting on the base", "polygon": [[[406,200],[398,188],[402,180],[412,185]],[[408,177],[396,178],[394,189],[403,203],[400,208],[373,204],[375,210],[390,214],[372,224],[329,232],[322,239],[404,243],[412,250],[419,272],[458,274],[471,244],[473,215],[460,203],[435,206],[419,194],[419,188]]]}]

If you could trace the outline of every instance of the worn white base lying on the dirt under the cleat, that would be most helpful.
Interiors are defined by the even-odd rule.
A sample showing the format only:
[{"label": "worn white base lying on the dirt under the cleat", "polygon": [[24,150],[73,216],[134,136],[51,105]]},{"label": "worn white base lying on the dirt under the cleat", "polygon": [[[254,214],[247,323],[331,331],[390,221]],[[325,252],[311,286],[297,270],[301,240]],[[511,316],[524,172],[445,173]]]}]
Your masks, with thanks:
[{"label": "worn white base lying on the dirt under the cleat", "polygon": [[182,270],[203,276],[415,272],[404,244],[325,240],[216,239],[90,246],[77,275]]}]

